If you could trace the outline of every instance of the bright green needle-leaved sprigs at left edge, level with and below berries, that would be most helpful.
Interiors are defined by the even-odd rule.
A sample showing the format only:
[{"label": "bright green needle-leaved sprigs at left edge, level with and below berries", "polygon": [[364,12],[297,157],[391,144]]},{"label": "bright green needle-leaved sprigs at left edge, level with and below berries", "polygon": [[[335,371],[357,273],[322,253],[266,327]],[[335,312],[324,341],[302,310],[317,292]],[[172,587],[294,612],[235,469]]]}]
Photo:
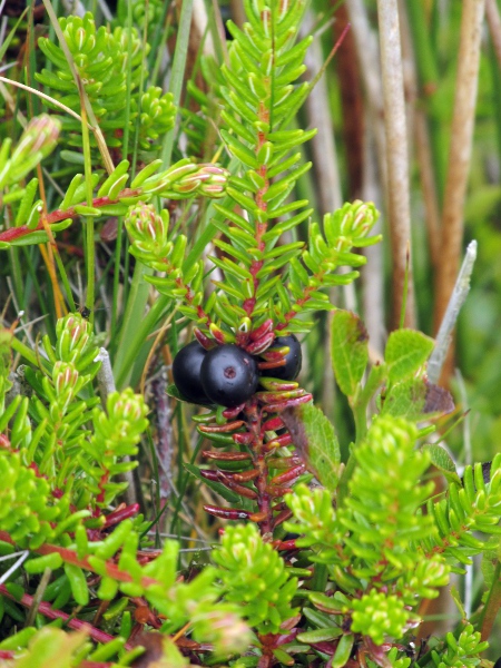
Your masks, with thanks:
[{"label": "bright green needle-leaved sprigs at left edge, level with and below berries", "polygon": [[[97,407],[98,399],[80,397],[100,364],[95,362],[98,348],[90,323],[69,314],[58,322],[57,336],[55,347],[43,340],[50,374],[27,367],[33,395],[17,395],[0,424],[4,429],[10,421],[1,465],[6,480],[12,481],[0,512],[11,529],[20,523],[22,537],[38,544],[57,540],[90,514],[89,507],[106,508],[122,491],[124,483],[112,478],[136,465],[121,460],[136,454],[147,426],[144,400],[130,389],[108,397],[107,413]],[[23,470],[21,463],[30,468]],[[31,513],[30,519],[18,520],[19,513],[11,511],[16,505],[19,517]],[[41,509],[38,514],[35,508]]]}]

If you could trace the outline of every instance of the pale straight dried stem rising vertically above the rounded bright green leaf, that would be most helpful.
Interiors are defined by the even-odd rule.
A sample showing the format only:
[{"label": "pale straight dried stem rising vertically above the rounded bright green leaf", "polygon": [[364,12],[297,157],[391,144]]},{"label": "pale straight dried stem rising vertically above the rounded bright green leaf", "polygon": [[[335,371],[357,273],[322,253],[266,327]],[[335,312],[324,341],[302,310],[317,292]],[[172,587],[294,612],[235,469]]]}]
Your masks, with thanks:
[{"label": "pale straight dried stem rising vertically above the rounded bright green leaf", "polygon": [[[397,1],[377,0],[377,17],[386,130],[387,214],[393,264],[391,324],[392,328],[396,328],[404,299],[406,252],[411,240],[407,129]],[[415,326],[412,259],[409,266],[404,325]]]}]

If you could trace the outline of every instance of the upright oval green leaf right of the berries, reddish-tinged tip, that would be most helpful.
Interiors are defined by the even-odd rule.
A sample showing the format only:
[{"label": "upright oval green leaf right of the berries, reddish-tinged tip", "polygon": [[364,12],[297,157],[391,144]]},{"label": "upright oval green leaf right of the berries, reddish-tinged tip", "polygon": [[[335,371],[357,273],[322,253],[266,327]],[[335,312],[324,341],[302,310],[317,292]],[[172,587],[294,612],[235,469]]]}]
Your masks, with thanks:
[{"label": "upright oval green leaf right of the berries, reddish-tinged tip", "polygon": [[336,311],[331,328],[331,355],[341,391],[353,396],[369,361],[367,331],[357,315]]}]

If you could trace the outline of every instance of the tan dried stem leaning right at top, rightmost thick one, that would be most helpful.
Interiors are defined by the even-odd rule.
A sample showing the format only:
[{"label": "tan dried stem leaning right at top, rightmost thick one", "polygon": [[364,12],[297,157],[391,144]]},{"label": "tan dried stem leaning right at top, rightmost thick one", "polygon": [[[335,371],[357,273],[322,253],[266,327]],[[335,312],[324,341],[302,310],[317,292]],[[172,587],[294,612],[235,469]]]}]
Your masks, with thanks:
[{"label": "tan dried stem leaning right at top, rightmost thick one", "polygon": [[434,326],[438,330],[454,288],[463,240],[463,208],[472,151],[484,0],[464,0],[454,110],[442,213]]}]

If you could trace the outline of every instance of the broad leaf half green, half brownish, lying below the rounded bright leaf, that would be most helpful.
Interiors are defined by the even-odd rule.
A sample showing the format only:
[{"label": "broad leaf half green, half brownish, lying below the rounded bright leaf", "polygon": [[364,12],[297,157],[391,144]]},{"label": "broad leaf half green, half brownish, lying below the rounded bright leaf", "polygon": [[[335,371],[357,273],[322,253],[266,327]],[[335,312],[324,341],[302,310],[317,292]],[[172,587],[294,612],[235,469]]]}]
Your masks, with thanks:
[{"label": "broad leaf half green, half brownish, lying below the rounded bright leaf", "polygon": [[389,390],[381,413],[419,420],[451,413],[453,410],[454,403],[448,390],[424,379],[407,379]]}]

